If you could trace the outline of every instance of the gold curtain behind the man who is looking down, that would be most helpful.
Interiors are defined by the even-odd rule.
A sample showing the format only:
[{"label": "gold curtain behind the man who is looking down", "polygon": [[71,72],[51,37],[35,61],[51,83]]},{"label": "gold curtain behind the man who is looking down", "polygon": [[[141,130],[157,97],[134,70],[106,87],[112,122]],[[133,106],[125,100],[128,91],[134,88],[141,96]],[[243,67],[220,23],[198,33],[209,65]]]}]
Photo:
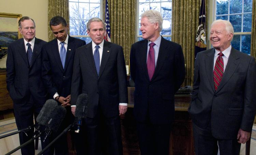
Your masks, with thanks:
[{"label": "gold curtain behind the man who is looking down", "polygon": [[63,17],[69,23],[69,0],[48,0],[48,40],[55,37],[49,26],[50,20],[54,16]]}]

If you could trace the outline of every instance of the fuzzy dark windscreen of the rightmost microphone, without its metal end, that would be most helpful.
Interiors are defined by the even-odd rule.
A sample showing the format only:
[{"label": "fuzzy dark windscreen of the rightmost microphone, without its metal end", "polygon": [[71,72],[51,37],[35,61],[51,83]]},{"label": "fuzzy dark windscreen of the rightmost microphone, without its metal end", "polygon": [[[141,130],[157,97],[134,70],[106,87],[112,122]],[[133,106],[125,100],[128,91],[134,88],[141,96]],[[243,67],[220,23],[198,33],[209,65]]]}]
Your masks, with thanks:
[{"label": "fuzzy dark windscreen of the rightmost microphone, without its metal end", "polygon": [[75,117],[86,118],[87,106],[88,106],[88,95],[84,93],[80,94],[76,100]]}]

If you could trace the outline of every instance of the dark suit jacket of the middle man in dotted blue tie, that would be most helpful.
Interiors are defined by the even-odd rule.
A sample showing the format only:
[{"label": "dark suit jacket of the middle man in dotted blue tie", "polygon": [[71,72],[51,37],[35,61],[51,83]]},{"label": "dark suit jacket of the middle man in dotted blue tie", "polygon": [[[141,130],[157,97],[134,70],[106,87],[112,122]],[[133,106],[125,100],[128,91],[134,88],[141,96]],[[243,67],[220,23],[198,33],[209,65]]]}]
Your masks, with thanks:
[{"label": "dark suit jacket of the middle man in dotted blue tie", "polygon": [[71,87],[71,105],[77,96],[88,94],[87,117],[94,118],[98,104],[105,117],[119,114],[119,103],[128,103],[123,48],[104,41],[99,76],[94,64],[92,43],[76,50]]}]

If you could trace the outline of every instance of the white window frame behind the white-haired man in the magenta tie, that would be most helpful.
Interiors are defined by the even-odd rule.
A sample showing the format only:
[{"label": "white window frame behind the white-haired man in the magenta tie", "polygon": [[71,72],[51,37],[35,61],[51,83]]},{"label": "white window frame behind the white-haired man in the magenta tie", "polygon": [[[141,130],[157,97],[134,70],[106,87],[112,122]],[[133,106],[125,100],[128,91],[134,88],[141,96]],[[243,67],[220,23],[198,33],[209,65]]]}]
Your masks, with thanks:
[{"label": "white window frame behind the white-haired man in the magenta tie", "polygon": [[[162,0],[162,1],[158,1],[158,2],[170,2],[170,1]],[[158,2],[145,2],[145,3],[158,3]],[[161,8],[161,3],[160,3],[160,8]],[[140,26],[139,10],[140,10],[140,4],[139,4],[139,0],[137,0],[137,11],[136,11],[136,36],[137,37],[136,37],[136,42],[139,41],[140,37],[142,37],[142,35],[139,35],[139,32],[140,32],[140,29],[139,29],[139,26]],[[170,19],[170,18],[163,18],[163,19]],[[172,18],[171,18],[171,20],[172,20]],[[163,37],[172,37],[172,31],[171,31],[171,35],[162,35],[162,36]]]}]

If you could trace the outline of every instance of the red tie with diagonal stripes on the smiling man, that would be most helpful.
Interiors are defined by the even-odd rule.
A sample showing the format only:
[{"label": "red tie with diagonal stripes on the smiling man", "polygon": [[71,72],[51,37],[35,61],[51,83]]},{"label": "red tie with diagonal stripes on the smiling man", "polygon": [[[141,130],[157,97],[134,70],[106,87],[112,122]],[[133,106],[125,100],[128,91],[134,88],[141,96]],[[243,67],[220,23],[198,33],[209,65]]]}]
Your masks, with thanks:
[{"label": "red tie with diagonal stripes on the smiling man", "polygon": [[218,89],[219,83],[221,83],[221,79],[224,73],[224,61],[223,61],[223,53],[218,53],[218,58],[215,62],[214,70],[213,70],[213,80],[214,80],[214,87],[215,91]]}]

